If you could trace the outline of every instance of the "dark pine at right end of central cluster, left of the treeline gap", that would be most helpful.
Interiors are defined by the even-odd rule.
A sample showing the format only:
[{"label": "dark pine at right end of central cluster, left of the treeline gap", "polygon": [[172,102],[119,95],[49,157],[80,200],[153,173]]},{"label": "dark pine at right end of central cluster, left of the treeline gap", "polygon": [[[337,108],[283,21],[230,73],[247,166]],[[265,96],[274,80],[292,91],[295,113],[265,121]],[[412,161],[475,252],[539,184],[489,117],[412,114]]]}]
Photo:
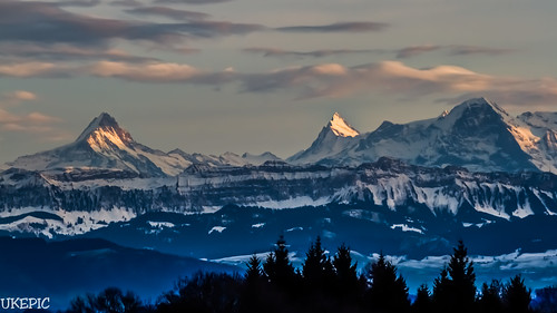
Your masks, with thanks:
[{"label": "dark pine at right end of central cluster, left of the treeline gap", "polygon": [[408,312],[408,287],[402,276],[397,276],[397,267],[387,261],[383,253],[371,265],[368,275],[371,282],[368,301],[374,312]]}]

